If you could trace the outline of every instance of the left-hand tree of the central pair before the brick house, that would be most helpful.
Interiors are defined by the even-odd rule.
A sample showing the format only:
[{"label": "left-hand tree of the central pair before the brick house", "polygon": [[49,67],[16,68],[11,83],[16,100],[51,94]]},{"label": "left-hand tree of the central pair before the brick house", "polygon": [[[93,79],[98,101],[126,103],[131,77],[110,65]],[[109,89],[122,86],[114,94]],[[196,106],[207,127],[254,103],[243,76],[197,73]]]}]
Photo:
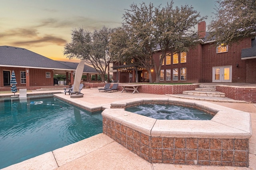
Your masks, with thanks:
[{"label": "left-hand tree of the central pair before the brick house", "polygon": [[132,4],[130,10],[126,10],[123,15],[124,21],[122,28],[118,28],[110,41],[111,52],[114,59],[130,63],[135,60],[139,67],[148,70],[150,82],[151,76],[151,60],[153,51],[156,49],[156,43],[152,32],[154,32],[153,18],[154,6],[145,3]]}]

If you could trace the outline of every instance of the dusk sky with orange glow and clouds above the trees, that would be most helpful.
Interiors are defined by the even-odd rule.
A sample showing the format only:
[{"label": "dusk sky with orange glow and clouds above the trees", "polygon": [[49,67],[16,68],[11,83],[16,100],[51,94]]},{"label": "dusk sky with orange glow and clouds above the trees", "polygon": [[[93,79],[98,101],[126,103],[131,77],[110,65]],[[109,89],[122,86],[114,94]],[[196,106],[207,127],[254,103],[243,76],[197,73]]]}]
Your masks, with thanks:
[{"label": "dusk sky with orange glow and clouds above the trees", "polygon": [[[132,3],[166,6],[170,0],[4,0],[0,5],[0,46],[26,48],[45,57],[69,60],[63,55],[64,44],[71,41],[74,28],[90,32],[103,26],[116,28],[122,24],[125,9]],[[173,0],[174,6],[188,4],[208,16],[215,12],[215,0]]]}]

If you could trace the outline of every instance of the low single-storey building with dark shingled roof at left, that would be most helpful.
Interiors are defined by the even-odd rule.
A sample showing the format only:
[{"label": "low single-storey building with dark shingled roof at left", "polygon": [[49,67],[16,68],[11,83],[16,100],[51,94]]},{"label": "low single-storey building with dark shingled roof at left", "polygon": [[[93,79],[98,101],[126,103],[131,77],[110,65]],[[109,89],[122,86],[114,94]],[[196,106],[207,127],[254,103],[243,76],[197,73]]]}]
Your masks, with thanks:
[{"label": "low single-storey building with dark shingled roof at left", "polygon": [[[69,75],[73,80],[76,67],[71,67],[68,63],[72,62],[64,64],[62,61],[54,61],[24,48],[0,46],[0,91],[10,90],[12,70],[16,75],[18,89],[35,90],[40,87],[53,86],[54,74]],[[85,67],[87,68],[86,65]],[[88,66],[88,70],[91,68]],[[85,73],[94,74],[96,70]]]}]

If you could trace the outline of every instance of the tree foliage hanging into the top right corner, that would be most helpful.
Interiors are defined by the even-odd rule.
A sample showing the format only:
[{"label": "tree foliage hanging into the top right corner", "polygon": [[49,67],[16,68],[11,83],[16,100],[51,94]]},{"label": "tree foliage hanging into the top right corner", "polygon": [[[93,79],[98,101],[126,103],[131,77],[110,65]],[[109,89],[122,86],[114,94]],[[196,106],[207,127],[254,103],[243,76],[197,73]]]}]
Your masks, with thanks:
[{"label": "tree foliage hanging into the top right corner", "polygon": [[256,32],[255,0],[218,0],[215,20],[208,26],[218,43],[234,43]]}]

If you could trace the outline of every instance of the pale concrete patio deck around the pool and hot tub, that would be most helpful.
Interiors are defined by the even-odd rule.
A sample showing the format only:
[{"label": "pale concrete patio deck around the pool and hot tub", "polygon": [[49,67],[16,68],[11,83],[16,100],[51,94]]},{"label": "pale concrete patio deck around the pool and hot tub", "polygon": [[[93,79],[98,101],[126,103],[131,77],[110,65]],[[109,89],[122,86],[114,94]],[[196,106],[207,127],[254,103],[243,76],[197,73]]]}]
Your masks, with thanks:
[{"label": "pale concrete patio deck around the pool and hot tub", "polygon": [[[120,89],[121,91],[122,89]],[[57,90],[51,92],[63,92],[64,90]],[[101,105],[104,108],[110,108],[110,103],[114,101],[140,98],[140,97],[168,97],[167,95],[152,95],[145,93],[124,92],[105,93],[99,92],[96,88],[82,89],[83,98],[78,98],[78,103],[84,105]],[[49,93],[49,91],[45,91]],[[44,93],[44,91],[33,91],[28,93]],[[18,94],[18,93],[17,93]],[[10,95],[10,94],[0,94]],[[61,95],[66,99],[70,99],[69,95]],[[201,99],[203,100],[203,99]],[[256,104],[239,102],[232,99],[224,98],[216,99],[210,103],[230,107],[240,111],[250,113],[252,119],[252,137],[249,142],[249,167],[233,167],[233,166],[198,166],[198,165],[180,165],[180,164],[151,164],[148,161],[140,158],[130,150],[124,148],[105,134],[98,134],[90,138],[81,140],[74,144],[64,146],[47,152],[35,158],[25,160],[18,164],[4,168],[4,170],[17,169],[40,169],[40,170],[80,170],[80,169],[139,169],[139,170],[164,170],[164,169],[178,169],[178,170],[254,170],[256,169]],[[111,152],[110,152],[111,150]]]}]

